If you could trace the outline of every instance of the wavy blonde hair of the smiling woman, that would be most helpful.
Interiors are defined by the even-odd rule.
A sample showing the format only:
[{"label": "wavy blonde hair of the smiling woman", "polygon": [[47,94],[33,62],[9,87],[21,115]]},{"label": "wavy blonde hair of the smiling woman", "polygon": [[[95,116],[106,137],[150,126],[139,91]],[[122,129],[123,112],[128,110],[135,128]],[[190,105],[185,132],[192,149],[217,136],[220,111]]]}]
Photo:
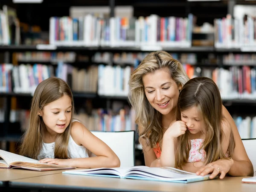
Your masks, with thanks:
[{"label": "wavy blonde hair of the smiling woman", "polygon": [[168,68],[170,76],[182,86],[189,80],[182,64],[166,51],[149,53],[140,65],[131,73],[129,80],[129,101],[136,111],[135,122],[143,126],[140,139],[143,138],[146,145],[153,148],[157,142],[163,138],[163,128],[161,125],[161,113],[155,110],[145,96],[142,78],[148,73],[156,70]]}]

